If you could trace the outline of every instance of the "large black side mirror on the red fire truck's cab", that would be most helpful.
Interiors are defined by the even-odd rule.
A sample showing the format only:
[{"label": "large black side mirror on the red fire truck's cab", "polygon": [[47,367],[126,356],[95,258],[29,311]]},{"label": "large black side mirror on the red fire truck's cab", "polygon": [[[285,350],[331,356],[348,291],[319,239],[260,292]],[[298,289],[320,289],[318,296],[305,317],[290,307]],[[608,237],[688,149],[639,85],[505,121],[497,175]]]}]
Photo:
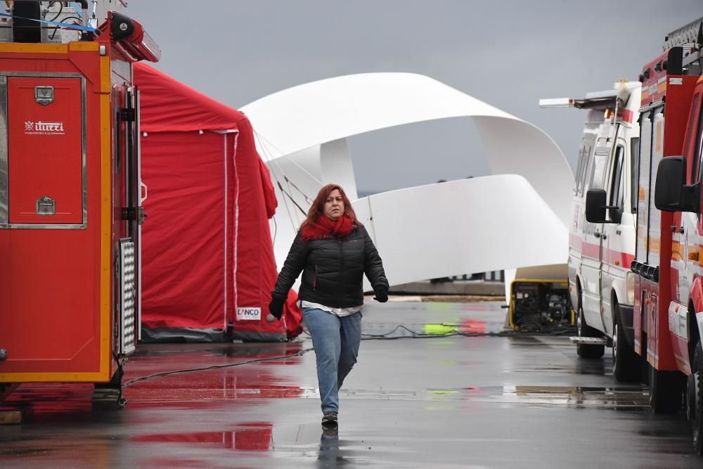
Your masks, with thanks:
[{"label": "large black side mirror on the red fire truck's cab", "polygon": [[686,160],[683,156],[662,158],[657,167],[654,206],[662,212],[698,212],[700,189],[686,186]]}]

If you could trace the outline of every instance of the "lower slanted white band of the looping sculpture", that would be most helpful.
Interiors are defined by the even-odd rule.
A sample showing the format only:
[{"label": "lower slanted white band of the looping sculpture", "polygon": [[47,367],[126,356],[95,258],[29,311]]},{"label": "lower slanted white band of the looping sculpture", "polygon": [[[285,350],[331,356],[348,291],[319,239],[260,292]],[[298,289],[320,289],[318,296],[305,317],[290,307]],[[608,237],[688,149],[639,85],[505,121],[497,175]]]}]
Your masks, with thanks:
[{"label": "lower slanted white band of the looping sculpture", "polygon": [[399,189],[353,205],[392,284],[562,264],[567,257],[566,227],[515,174]]}]

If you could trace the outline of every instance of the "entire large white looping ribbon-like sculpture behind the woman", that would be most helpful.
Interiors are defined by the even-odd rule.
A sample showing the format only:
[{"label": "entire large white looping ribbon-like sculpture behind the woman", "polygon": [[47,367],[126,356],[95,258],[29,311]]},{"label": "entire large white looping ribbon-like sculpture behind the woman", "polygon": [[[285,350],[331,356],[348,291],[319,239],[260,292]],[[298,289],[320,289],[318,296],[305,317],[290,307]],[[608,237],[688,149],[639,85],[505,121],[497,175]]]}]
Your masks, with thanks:
[{"label": "entire large white looping ribbon-like sculpture behind the woman", "polygon": [[[552,139],[528,122],[437,80],[409,73],[323,79],[271,94],[241,110],[252,122],[257,149],[271,169],[274,184],[280,184],[274,240],[279,268],[295,229],[304,219],[302,212],[307,211],[311,198],[323,184],[340,184],[349,198],[356,198],[348,136],[449,117],[473,118],[493,174],[517,174],[522,179],[465,179],[370,196],[366,205],[370,203],[373,210],[380,212],[374,211],[373,221],[362,221],[379,245],[387,269],[395,272],[399,262],[397,276],[389,273],[391,283],[566,261],[565,225],[573,175]],[[437,213],[434,204],[451,204],[456,195],[463,197],[463,202],[452,205],[459,210],[453,218],[467,219],[471,226],[484,221],[495,223],[491,228],[493,235],[482,236],[481,232],[470,230],[467,236],[460,237],[464,240],[460,243],[459,237],[450,232],[463,231],[467,226],[442,225],[434,232],[432,245],[414,245],[421,238],[405,241],[394,230],[394,226],[406,226],[406,219],[413,219],[414,224],[425,223]],[[424,200],[433,200],[433,204],[423,203]],[[532,208],[525,207],[524,201],[532,203]],[[516,204],[522,204],[524,214],[530,215],[524,219],[526,223],[533,220],[530,226],[534,243],[529,246],[522,240],[527,226],[517,229],[508,216]],[[363,205],[363,200],[356,201],[355,210],[361,212]],[[376,205],[378,209],[374,208]],[[505,233],[495,236],[495,231]],[[563,235],[562,243],[554,238],[557,235]],[[500,245],[495,241],[498,238]],[[395,241],[389,242],[392,239]],[[420,249],[433,254],[423,257],[423,262],[413,262],[417,269],[408,269],[407,256]],[[498,250],[507,254],[498,255]],[[402,253],[401,257],[395,259],[394,252]],[[479,252],[482,255],[477,257]],[[507,259],[511,261],[506,263]]]}]

